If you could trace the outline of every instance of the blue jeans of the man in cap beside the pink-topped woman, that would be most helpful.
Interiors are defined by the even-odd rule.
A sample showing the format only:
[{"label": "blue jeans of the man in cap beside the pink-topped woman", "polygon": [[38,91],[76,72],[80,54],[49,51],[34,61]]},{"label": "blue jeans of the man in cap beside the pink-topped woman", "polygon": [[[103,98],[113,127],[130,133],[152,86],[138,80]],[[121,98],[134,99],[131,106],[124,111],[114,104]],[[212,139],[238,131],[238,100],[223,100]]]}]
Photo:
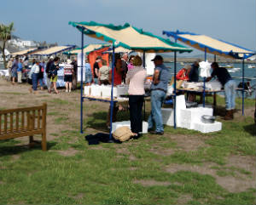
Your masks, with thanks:
[{"label": "blue jeans of the man in cap beside the pink-topped woman", "polygon": [[148,117],[148,129],[154,127],[156,132],[164,132],[161,106],[166,99],[166,93],[162,90],[151,91],[151,113]]}]

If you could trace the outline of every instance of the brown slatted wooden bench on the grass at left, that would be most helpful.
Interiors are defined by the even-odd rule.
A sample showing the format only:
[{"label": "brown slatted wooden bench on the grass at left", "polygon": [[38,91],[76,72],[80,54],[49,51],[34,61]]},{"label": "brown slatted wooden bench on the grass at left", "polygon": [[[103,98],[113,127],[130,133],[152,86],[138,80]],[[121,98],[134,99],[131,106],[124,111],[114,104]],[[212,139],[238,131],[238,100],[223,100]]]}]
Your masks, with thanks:
[{"label": "brown slatted wooden bench on the grass at left", "polygon": [[35,144],[33,134],[42,134],[42,150],[46,145],[47,104],[0,111],[0,140],[29,136],[29,146]]}]

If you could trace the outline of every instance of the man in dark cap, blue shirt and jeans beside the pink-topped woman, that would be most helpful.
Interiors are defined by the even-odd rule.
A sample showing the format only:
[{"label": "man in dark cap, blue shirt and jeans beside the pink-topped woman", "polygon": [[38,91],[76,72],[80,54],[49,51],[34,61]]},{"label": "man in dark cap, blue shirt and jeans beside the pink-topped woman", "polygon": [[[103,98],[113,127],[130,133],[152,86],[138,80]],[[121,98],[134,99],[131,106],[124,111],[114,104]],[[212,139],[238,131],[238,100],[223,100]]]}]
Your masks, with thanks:
[{"label": "man in dark cap, blue shirt and jeans beside the pink-topped woman", "polygon": [[[169,70],[164,65],[162,56],[156,55],[154,59],[154,77],[151,85],[151,113],[148,117],[148,131],[151,134],[164,134],[161,106],[166,99],[166,91],[170,80]],[[155,130],[153,127],[155,125]]]}]

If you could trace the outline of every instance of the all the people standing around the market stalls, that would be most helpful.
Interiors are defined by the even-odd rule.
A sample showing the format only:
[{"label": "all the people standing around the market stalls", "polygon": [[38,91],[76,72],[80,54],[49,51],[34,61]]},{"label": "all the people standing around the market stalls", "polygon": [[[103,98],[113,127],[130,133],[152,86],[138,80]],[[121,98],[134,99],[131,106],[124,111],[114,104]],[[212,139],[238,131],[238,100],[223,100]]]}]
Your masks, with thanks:
[{"label": "all the people standing around the market stalls", "polygon": [[[155,55],[154,59],[154,75],[150,88],[151,97],[151,112],[148,117],[148,132],[151,134],[164,134],[164,126],[161,115],[161,107],[166,100],[166,92],[170,84],[170,72],[164,65],[164,60],[161,55]],[[199,61],[195,60],[192,65],[184,65],[183,68],[177,72],[177,81],[198,82],[199,81]],[[28,78],[32,84],[31,92],[36,93],[38,85],[44,89],[43,78],[46,75],[46,85],[48,92],[58,94],[56,87],[57,71],[60,69],[60,58],[50,56],[49,60],[45,63],[44,60],[32,60],[32,68],[29,71]],[[28,68],[28,59],[16,57],[9,60],[9,73],[11,82],[15,84],[21,83],[22,70]],[[72,91],[73,82],[77,80],[77,61],[67,60],[64,64],[64,81],[66,83],[66,92]],[[45,74],[44,74],[45,73]],[[144,83],[146,81],[147,72],[143,67],[143,60],[140,56],[122,54],[122,56],[115,56],[113,71],[108,66],[107,60],[102,60],[98,56],[93,64],[90,66],[90,60],[85,60],[85,85],[104,84],[109,85],[113,83],[114,86],[125,83],[129,85],[129,105],[131,131],[134,137],[139,137],[142,132],[142,109],[144,101]],[[236,83],[230,77],[229,72],[225,68],[220,68],[218,63],[212,63],[212,76],[207,78],[210,81],[212,77],[217,77],[218,81],[223,85],[226,100],[226,115],[225,120],[233,119],[235,111],[236,100]],[[188,94],[189,101],[195,101],[195,93]],[[116,121],[117,111],[125,110],[123,105],[113,103],[113,122]],[[110,125],[110,111],[108,111],[107,125]]]}]

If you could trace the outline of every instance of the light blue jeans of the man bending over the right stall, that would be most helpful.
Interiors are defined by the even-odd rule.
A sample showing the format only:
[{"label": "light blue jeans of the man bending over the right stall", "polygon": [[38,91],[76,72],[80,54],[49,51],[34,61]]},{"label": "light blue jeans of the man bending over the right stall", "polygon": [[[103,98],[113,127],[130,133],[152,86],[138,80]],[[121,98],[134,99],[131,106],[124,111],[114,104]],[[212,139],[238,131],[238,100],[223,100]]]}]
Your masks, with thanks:
[{"label": "light blue jeans of the man bending over the right stall", "polygon": [[226,110],[230,111],[236,107],[236,82],[230,80],[224,84]]}]

